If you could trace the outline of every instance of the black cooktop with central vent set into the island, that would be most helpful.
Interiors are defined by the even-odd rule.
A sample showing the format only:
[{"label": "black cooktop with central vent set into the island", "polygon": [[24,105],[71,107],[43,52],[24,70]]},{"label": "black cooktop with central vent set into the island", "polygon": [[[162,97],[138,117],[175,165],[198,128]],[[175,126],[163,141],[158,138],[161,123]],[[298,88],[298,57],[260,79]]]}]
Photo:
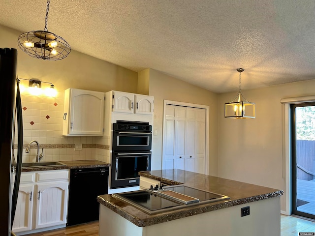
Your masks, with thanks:
[{"label": "black cooktop with central vent set into the island", "polygon": [[228,200],[227,196],[207,192],[184,185],[167,186],[162,189],[145,189],[133,192],[113,194],[134,207],[148,214],[156,214],[167,210]]}]

